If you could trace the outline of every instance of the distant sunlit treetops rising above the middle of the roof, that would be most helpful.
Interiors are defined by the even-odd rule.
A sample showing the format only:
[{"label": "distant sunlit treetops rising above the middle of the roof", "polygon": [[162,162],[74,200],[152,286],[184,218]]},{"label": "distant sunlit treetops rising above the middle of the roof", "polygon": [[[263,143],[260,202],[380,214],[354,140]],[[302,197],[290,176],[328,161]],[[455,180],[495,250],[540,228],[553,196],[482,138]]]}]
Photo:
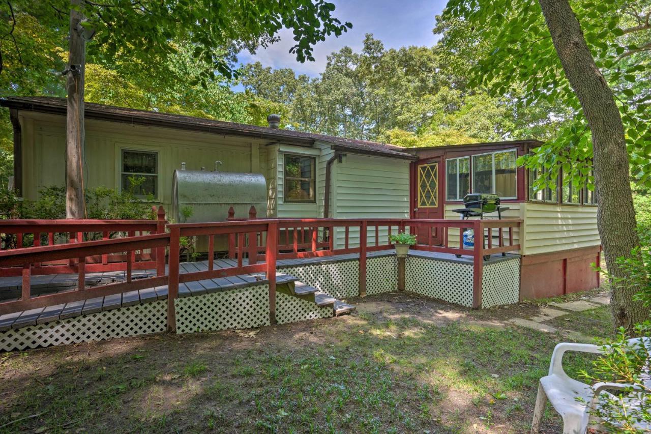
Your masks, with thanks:
[{"label": "distant sunlit treetops rising above the middle of the roof", "polygon": [[385,49],[370,34],[361,52],[331,53],[320,78],[254,63],[243,67],[241,82],[277,104],[288,128],[406,147],[545,139],[564,121],[549,104],[518,108],[510,96],[467,87],[436,48]]}]

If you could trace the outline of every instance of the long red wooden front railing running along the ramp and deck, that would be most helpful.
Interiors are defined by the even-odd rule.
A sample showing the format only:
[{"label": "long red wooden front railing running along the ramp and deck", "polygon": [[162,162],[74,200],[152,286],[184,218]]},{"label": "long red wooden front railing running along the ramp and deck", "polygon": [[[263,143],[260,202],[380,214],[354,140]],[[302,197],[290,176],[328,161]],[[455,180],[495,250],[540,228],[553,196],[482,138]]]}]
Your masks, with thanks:
[{"label": "long red wooden front railing running along the ramp and deck", "polygon": [[[162,209],[160,209],[162,210]],[[162,212],[162,211],[161,211]],[[160,216],[160,214],[159,214]],[[251,217],[255,217],[252,215]],[[75,225],[77,224],[77,225]],[[81,224],[81,225],[80,225]],[[92,231],[112,231],[113,228],[122,228],[117,222],[104,222],[98,227],[98,222],[56,222],[39,226],[39,231],[59,231],[65,227],[66,231],[81,232],[85,229]],[[113,226],[115,224],[115,226]],[[133,223],[133,234],[139,224]],[[146,223],[151,225],[151,223]],[[359,253],[359,293],[366,294],[366,259],[367,252],[391,248],[389,235],[393,231],[420,231],[432,233],[434,229],[443,234],[441,245],[432,244],[431,237],[428,243],[421,242],[413,248],[428,250],[430,252],[454,253],[470,255],[474,264],[473,300],[475,307],[481,303],[482,282],[482,256],[493,253],[504,253],[519,250],[519,244],[513,244],[514,229],[518,228],[521,220],[409,220],[409,219],[255,219],[234,222],[191,223],[167,225],[169,233],[161,233],[164,220],[159,218],[154,222],[156,231],[151,235],[132,235],[126,238],[102,239],[81,241],[75,243],[53,244],[48,246],[33,246],[16,248],[14,250],[0,251],[0,270],[19,270],[22,276],[22,292],[19,300],[0,302],[0,315],[15,311],[29,310],[44,306],[52,306],[87,298],[103,297],[137,289],[146,289],[161,285],[168,285],[168,328],[176,328],[174,300],[178,297],[180,283],[195,282],[210,278],[236,276],[253,272],[264,272],[269,282],[270,321],[275,323],[275,270],[278,258],[301,258],[337,255],[340,253]],[[125,224],[126,225],[126,224]],[[458,229],[459,246],[450,246],[449,229]],[[480,235],[488,235],[487,246],[482,242],[475,242],[473,250],[462,248],[462,232],[464,229],[473,228],[475,239],[480,240]],[[14,224],[14,233],[25,233],[27,226]],[[29,227],[34,231],[35,227]],[[119,229],[115,229],[119,230]],[[149,229],[154,230],[149,226]],[[292,242],[279,240],[280,234],[290,233]],[[299,237],[299,233],[307,234]],[[357,239],[353,234],[357,233]],[[497,239],[493,235],[497,233]],[[363,242],[359,243],[359,235]],[[339,235],[341,242],[335,240]],[[180,238],[181,237],[208,237],[208,265],[206,270],[197,272],[180,273]],[[229,239],[229,253],[235,259],[236,265],[227,268],[215,269],[214,246],[215,237],[226,236]],[[285,235],[286,236],[286,235]],[[299,242],[299,240],[302,240]],[[308,242],[306,242],[306,240]],[[508,244],[507,244],[508,241]],[[169,272],[165,273],[164,249],[169,246]],[[132,270],[139,264],[151,264],[152,261],[135,262],[133,252],[151,250],[156,252],[156,277],[132,279]],[[124,255],[124,270],[126,282],[111,283],[98,287],[86,287],[85,273],[88,270],[88,258],[105,257],[105,255]],[[247,257],[247,263],[244,258]],[[76,261],[76,265],[44,265],[55,261]],[[38,267],[35,265],[38,264]],[[104,263],[99,265],[106,265]],[[78,274],[78,286],[73,291],[32,297],[31,276],[38,270],[48,270],[51,274],[70,272]]]}]

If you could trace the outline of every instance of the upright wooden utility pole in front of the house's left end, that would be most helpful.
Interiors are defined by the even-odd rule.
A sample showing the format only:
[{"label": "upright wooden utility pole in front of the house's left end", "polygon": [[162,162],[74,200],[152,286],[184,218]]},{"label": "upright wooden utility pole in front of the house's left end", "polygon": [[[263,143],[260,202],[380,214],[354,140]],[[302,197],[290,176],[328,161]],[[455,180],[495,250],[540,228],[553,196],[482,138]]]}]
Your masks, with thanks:
[{"label": "upright wooden utility pole in front of the house's left end", "polygon": [[[80,6],[81,0],[70,0],[70,5]],[[66,218],[84,218],[83,191],[83,83],[86,61],[85,42],[77,34],[77,24],[83,15],[70,10],[70,57],[66,93],[68,118],[66,122]]]}]

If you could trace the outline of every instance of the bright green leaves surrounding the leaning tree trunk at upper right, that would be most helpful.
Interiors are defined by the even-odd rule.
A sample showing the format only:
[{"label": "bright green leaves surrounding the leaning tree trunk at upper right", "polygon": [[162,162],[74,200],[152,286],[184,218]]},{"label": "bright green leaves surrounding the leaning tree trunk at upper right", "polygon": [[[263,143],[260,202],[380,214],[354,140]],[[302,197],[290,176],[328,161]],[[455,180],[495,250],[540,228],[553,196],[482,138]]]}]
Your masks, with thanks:
[{"label": "bright green leaves surrounding the leaning tree trunk at upper right", "polygon": [[[579,0],[572,8],[615,94],[633,176],[651,186],[651,82],[642,80],[651,61],[651,28],[645,18],[650,6],[639,0]],[[590,130],[537,1],[450,0],[437,17],[435,32],[443,33],[443,55],[465,70],[469,86],[486,87],[499,96],[522,89],[514,93],[518,108],[549,104],[552,117],[566,117],[559,134],[522,163],[549,167],[551,177],[562,167],[568,179],[591,184]],[[544,182],[541,178],[536,185],[540,188]]]}]

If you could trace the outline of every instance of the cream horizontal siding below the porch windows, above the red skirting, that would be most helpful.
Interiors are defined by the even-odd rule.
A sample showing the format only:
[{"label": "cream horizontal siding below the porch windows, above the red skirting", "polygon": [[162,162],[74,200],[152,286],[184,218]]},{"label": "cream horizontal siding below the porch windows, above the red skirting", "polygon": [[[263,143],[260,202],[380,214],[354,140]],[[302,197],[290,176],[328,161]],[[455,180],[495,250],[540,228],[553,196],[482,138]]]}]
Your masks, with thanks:
[{"label": "cream horizontal siding below the porch windows, above the red skirting", "polygon": [[599,246],[597,208],[524,203],[525,254]]}]

